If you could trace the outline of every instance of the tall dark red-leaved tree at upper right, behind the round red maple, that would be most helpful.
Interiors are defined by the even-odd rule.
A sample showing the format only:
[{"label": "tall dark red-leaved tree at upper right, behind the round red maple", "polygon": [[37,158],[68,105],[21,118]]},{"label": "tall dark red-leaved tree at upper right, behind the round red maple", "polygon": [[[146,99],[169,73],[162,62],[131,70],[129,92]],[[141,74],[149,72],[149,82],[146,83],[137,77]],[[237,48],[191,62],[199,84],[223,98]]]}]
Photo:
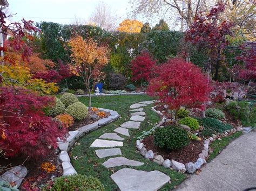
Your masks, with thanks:
[{"label": "tall dark red-leaved tree at upper right, behind the round red maple", "polygon": [[224,11],[225,5],[219,3],[213,6],[208,14],[201,12],[194,17],[194,22],[185,36],[186,41],[190,41],[199,51],[208,55],[208,74],[211,72],[212,63],[215,63],[215,80],[218,79],[221,54],[229,43],[226,36],[232,35],[232,23],[220,19],[220,14]]}]

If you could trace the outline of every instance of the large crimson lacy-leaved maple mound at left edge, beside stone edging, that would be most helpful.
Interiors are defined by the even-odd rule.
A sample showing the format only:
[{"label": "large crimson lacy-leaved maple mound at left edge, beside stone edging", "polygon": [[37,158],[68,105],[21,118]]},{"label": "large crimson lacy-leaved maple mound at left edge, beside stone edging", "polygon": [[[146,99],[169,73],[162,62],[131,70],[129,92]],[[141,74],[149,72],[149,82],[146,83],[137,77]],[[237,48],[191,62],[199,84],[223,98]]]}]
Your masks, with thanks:
[{"label": "large crimson lacy-leaved maple mound at left edge, beside stone edging", "polygon": [[50,96],[23,88],[0,88],[0,148],[7,156],[42,157],[48,154],[48,146],[57,147],[58,137],[65,139],[66,129],[59,129],[58,122],[44,115],[43,109],[52,104]]}]

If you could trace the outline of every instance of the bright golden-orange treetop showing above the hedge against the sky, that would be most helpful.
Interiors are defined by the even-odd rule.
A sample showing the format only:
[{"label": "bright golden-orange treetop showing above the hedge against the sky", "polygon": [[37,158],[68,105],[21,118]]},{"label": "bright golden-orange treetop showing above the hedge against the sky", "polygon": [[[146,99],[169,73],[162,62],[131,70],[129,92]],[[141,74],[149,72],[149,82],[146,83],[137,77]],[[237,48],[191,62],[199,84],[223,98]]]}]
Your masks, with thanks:
[{"label": "bright golden-orange treetop showing above the hedge against the sky", "polygon": [[129,33],[139,33],[142,29],[143,23],[139,20],[125,19],[117,27],[118,31],[129,32]]}]

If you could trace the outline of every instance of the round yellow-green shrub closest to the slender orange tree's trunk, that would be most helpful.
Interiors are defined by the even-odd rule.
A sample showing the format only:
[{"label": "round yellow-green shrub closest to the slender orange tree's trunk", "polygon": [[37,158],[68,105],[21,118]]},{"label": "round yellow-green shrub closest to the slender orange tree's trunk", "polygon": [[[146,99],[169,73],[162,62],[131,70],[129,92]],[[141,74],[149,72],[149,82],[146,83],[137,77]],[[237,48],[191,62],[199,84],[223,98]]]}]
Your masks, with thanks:
[{"label": "round yellow-green shrub closest to the slender orange tree's trunk", "polygon": [[66,108],[66,114],[71,115],[75,120],[82,120],[88,115],[88,109],[85,104],[76,102]]}]

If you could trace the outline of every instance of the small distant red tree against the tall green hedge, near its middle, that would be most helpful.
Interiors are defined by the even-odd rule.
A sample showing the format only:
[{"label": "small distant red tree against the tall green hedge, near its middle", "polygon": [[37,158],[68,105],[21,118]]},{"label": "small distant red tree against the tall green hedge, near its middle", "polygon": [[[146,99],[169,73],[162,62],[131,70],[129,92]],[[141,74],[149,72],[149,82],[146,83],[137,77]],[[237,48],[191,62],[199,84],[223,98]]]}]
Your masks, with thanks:
[{"label": "small distant red tree against the tall green hedge, near its middle", "polygon": [[149,52],[143,52],[131,61],[132,80],[133,81],[149,81],[151,79],[152,70],[156,60],[152,60]]}]

